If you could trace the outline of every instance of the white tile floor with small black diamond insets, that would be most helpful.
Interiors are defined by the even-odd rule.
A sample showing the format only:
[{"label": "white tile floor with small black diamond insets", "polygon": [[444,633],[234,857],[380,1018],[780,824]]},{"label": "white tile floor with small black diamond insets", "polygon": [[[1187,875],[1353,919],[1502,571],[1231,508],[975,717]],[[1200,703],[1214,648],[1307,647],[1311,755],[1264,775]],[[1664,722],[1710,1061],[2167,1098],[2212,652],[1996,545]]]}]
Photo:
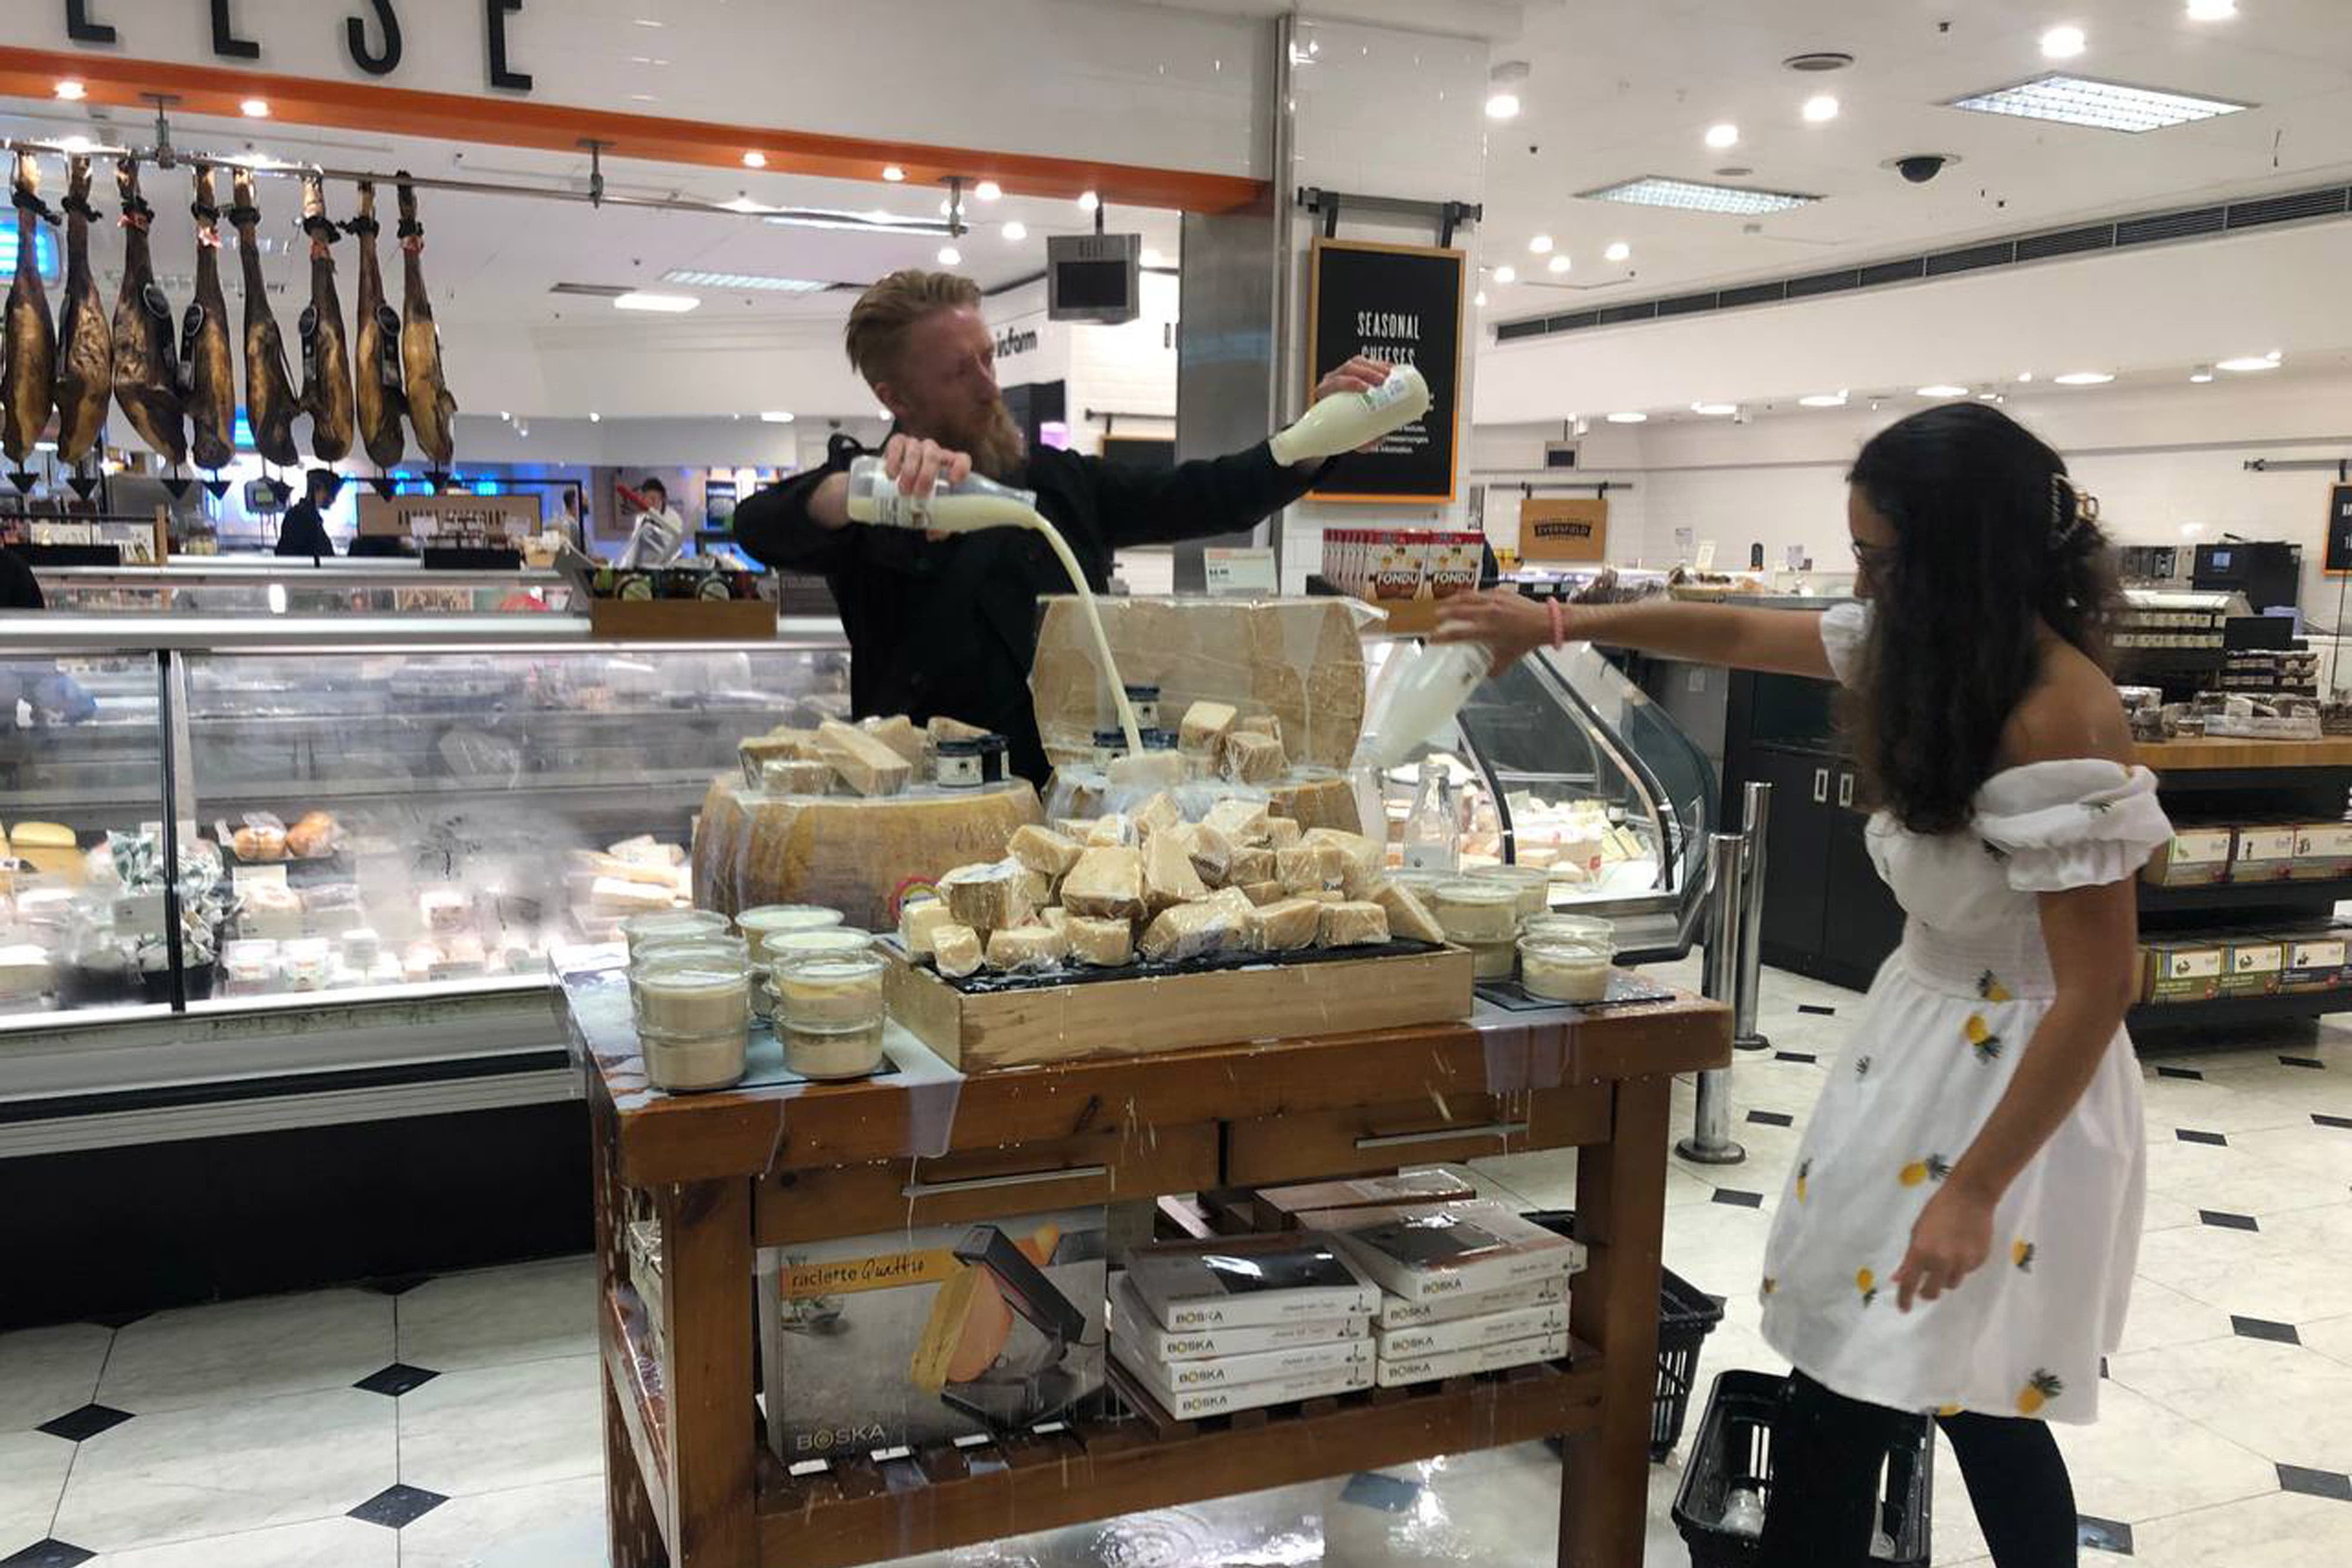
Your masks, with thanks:
[{"label": "white tile floor with small black diamond insets", "polygon": [[[1668,1267],[1726,1295],[1700,1387],[1726,1368],[1783,1371],[1757,1335],[1752,1284],[1856,1004],[1769,973],[1764,1032],[1778,1053],[1820,1060],[1743,1053],[1731,1098],[1748,1159],[1672,1161]],[[2145,1077],[2150,1206],[2131,1326],[2103,1422],[2058,1429],[2077,1502],[2119,1526],[2114,1544],[2164,1568],[2347,1563],[2352,1030],[2152,1051]],[[1677,1135],[1691,1100],[1693,1086],[1677,1084]],[[1531,1154],[1472,1175],[1524,1206],[1564,1208],[1573,1171],[1571,1154]],[[0,1568],[593,1568],[604,1544],[590,1279],[588,1260],[569,1258],[400,1293],[0,1335]],[[1668,1514],[1686,1450],[1651,1472],[1653,1568],[1689,1561]],[[1524,1446],[924,1568],[1534,1566],[1552,1561],[1555,1516],[1557,1460]],[[1933,1519],[1938,1566],[1987,1561],[1940,1450]]]}]

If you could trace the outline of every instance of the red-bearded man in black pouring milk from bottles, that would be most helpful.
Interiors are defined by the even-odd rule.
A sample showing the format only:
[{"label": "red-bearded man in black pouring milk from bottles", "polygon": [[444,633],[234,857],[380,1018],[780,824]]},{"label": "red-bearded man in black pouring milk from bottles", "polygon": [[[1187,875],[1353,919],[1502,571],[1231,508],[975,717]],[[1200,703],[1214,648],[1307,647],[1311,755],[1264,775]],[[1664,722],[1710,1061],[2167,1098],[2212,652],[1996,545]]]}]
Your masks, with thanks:
[{"label": "red-bearded man in black pouring milk from bottles", "polygon": [[[1322,463],[1282,468],[1265,442],[1221,458],[1145,473],[1075,451],[1030,451],[997,395],[995,339],[969,277],[908,268],[866,289],[849,310],[849,364],[889,409],[882,444],[898,489],[981,473],[1037,491],[1037,512],[1070,543],[1096,592],[1112,550],[1237,534],[1298,501]],[[1378,386],[1388,367],[1350,360],[1315,400]],[[964,719],[1007,738],[1011,766],[1044,783],[1030,710],[1037,595],[1070,592],[1042,538],[990,529],[924,538],[849,527],[849,461],[866,449],[835,435],[826,465],[748,496],[736,541],[769,567],[826,578],[849,632],[849,701],[858,717],[903,712]]]}]

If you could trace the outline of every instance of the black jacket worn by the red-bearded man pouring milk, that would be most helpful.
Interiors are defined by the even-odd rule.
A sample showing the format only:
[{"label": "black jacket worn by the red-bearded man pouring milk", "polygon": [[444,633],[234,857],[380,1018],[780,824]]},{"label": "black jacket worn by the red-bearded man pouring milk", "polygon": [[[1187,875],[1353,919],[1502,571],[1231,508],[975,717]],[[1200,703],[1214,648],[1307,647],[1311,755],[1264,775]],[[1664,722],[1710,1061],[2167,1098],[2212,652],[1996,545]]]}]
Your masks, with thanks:
[{"label": "black jacket worn by the red-bearded man pouring milk", "polygon": [[[983,724],[1011,743],[1011,766],[1044,783],[1044,745],[1030,708],[1037,595],[1070,592],[1047,543],[1028,529],[929,541],[908,529],[821,529],[809,494],[849,468],[858,447],[835,435],[826,468],[771,484],[736,508],[734,534],[783,571],[826,578],[849,632],[849,703],[856,717],[903,712]],[[1110,555],[1129,545],[1237,534],[1298,501],[1315,482],[1275,463],[1265,444],[1223,458],[1141,470],[1040,447],[1014,482],[1070,543],[1096,592]]]}]

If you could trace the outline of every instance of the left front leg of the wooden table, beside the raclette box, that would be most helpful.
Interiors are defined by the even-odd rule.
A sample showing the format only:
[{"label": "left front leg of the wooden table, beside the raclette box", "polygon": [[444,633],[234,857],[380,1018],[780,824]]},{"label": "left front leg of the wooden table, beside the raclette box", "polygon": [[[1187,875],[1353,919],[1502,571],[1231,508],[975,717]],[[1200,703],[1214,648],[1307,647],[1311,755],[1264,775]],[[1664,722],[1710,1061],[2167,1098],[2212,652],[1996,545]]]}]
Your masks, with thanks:
[{"label": "left front leg of the wooden table, beside the raclette box", "polygon": [[675,1568],[753,1568],[750,1180],[656,1192]]}]

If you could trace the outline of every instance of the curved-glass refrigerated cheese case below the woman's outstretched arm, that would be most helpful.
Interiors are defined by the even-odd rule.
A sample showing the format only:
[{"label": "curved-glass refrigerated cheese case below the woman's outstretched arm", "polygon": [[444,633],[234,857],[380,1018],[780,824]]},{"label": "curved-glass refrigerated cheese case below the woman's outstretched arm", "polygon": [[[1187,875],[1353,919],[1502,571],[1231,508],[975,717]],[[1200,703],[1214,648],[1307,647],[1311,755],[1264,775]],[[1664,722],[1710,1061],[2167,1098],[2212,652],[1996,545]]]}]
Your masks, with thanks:
[{"label": "curved-glass refrigerated cheese case below the woman's outstretched arm", "polygon": [[[1376,686],[1399,646],[1364,644]],[[1486,679],[1423,755],[1442,757],[1458,788],[1465,867],[1550,867],[1552,907],[1611,919],[1625,964],[1689,952],[1708,891],[1715,766],[1595,649],[1538,649]],[[1418,776],[1414,755],[1381,778],[1390,839]]]}]

